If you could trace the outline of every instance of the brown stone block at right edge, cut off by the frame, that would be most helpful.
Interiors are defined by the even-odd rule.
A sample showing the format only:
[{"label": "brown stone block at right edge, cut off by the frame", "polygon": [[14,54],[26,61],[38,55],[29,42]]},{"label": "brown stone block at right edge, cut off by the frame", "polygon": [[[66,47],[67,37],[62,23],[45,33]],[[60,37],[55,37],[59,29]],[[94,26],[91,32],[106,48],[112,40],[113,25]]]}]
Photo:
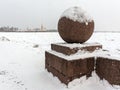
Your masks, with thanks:
[{"label": "brown stone block at right edge, cut off by the frame", "polygon": [[106,79],[110,84],[120,85],[120,61],[105,57],[96,60],[96,73],[101,79]]}]

